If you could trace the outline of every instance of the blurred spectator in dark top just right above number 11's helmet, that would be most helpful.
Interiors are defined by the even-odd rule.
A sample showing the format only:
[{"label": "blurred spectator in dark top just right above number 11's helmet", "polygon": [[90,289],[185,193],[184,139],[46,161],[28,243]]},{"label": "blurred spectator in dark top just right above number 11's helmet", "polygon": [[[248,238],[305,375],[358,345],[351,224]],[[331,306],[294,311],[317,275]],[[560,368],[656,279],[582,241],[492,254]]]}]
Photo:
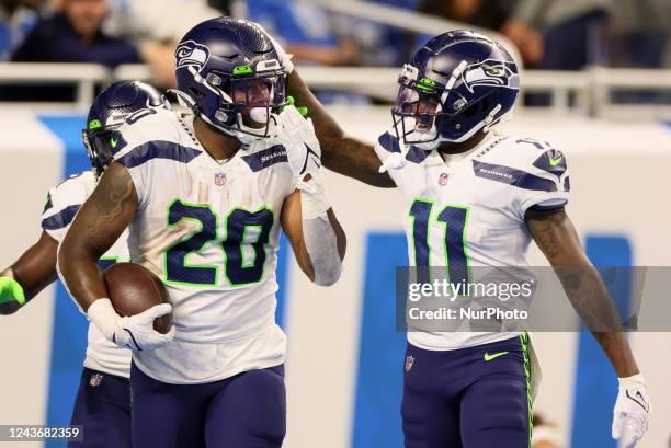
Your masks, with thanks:
[{"label": "blurred spectator in dark top just right above number 11's helmet", "polygon": [[580,70],[607,62],[606,28],[613,10],[613,0],[520,0],[501,31],[524,55],[525,36],[539,30],[543,45],[533,44],[538,47],[531,51],[530,65]]}]

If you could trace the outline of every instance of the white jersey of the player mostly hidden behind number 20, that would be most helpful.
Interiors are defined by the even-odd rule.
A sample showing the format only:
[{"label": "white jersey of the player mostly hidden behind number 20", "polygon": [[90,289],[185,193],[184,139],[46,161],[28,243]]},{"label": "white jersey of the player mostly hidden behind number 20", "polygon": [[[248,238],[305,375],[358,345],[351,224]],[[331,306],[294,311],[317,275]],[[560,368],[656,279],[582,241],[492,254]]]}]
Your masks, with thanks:
[{"label": "white jersey of the player mostly hidden behind number 20", "polygon": [[[58,244],[65,238],[75,215],[95,188],[95,175],[86,171],[71,176],[49,191],[47,204],[42,216],[42,228]],[[127,231],[100,259],[99,265],[104,271],[117,262],[130,261],[126,240]],[[67,261],[66,261],[67,262]],[[60,271],[58,276],[62,282]],[[84,367],[128,378],[130,376],[130,351],[120,348],[107,341],[104,334],[93,323],[89,323],[89,344]]]}]

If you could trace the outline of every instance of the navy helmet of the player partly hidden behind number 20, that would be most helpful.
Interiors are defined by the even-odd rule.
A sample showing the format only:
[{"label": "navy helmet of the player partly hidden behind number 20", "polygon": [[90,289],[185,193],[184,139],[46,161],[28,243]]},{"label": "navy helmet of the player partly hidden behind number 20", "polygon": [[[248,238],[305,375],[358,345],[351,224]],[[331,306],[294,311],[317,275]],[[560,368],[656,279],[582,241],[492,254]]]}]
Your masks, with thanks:
[{"label": "navy helmet of the player partly hidden behind number 20", "polygon": [[140,81],[114,82],[93,100],[82,140],[96,176],[105,171],[112,158],[113,133],[130,114],[144,108],[171,107],[163,94]]}]

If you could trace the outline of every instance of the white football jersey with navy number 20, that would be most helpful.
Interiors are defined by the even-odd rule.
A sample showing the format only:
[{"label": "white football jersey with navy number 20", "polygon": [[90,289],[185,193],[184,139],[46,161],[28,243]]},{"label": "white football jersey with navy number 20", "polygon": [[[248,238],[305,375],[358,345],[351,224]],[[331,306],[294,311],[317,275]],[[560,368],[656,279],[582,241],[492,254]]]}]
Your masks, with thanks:
[{"label": "white football jersey with navy number 20", "polygon": [[140,111],[120,129],[115,160],[139,199],[129,230],[133,261],[166,284],[175,338],[135,352],[169,383],[198,383],[284,363],[275,324],[280,214],[296,182],[274,139],[217,161],[193,133],[193,115]]}]

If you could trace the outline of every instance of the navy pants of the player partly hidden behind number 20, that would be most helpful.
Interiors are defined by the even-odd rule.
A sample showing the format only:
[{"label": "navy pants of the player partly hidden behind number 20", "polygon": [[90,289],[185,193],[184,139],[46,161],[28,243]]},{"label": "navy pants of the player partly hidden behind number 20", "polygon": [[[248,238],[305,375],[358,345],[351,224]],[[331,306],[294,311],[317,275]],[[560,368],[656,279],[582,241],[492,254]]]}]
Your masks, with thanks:
[{"label": "navy pants of the player partly hidden behind number 20", "polygon": [[71,448],[130,448],[130,386],[125,378],[84,368],[71,425],[83,425],[83,443]]}]

